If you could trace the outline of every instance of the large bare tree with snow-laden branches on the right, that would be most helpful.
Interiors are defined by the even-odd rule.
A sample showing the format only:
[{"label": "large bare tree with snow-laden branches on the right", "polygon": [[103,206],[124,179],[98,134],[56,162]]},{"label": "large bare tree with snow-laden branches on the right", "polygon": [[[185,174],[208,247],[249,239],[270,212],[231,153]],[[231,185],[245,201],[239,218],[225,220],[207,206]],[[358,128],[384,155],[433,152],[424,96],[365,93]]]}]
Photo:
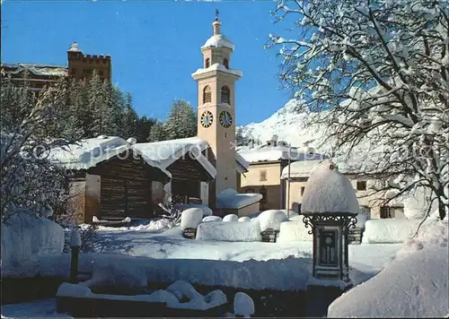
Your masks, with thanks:
[{"label": "large bare tree with snow-laden branches on the right", "polygon": [[268,47],[280,47],[280,79],[311,113],[307,125],[326,127],[338,151],[374,161],[364,174],[382,177],[375,192],[397,190],[388,201],[429,188],[444,219],[449,3],[278,0],[273,14],[294,22],[294,39],[270,35]]}]

